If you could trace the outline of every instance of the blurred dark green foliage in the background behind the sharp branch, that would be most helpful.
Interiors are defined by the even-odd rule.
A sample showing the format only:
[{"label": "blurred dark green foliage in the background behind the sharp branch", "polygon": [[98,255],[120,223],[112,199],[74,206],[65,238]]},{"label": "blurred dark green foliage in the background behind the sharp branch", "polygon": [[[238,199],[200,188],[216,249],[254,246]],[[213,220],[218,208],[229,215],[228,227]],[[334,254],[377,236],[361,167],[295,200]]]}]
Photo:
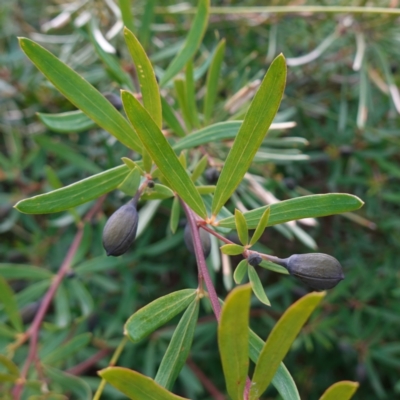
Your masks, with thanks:
[{"label": "blurred dark green foliage in the background behind the sharp branch", "polygon": [[[175,8],[166,8],[168,3]],[[218,120],[236,112],[240,115],[240,107],[238,111],[224,108],[226,99],[262,78],[269,62],[282,52],[289,67],[280,115],[282,120],[297,124],[290,136],[305,138],[309,144],[258,163],[257,171],[266,178],[264,187],[281,200],[308,193],[345,192],[365,201],[356,214],[321,218],[317,226],[303,226],[297,237],[285,237],[285,232],[274,229],[263,237],[264,245],[281,256],[309,252],[316,243],[319,251],[341,261],[346,274],[313,314],[285,363],[304,399],[318,398],[331,383],[342,379],[360,382],[355,398],[396,398],[400,394],[398,16],[383,12],[294,14],[289,10],[251,13],[255,2],[222,3],[247,10],[211,15],[195,62],[200,75],[196,81],[198,100],[202,98],[207,60],[219,38],[226,38],[226,53],[213,113]],[[375,3],[380,7],[397,4]],[[162,6],[156,1],[133,5],[134,30],[160,69],[176,54],[192,20],[186,12],[173,12],[184,11],[185,5],[163,2]],[[73,10],[63,26],[48,24],[62,10],[56,2],[6,0],[0,5],[0,254],[2,275],[17,293],[26,323],[50,280],[42,270],[29,279],[11,279],[8,264],[57,271],[75,224],[68,213],[30,216],[12,209],[13,205],[57,188],[61,182],[65,185],[119,165],[126,155],[125,148],[101,129],[79,135],[55,133],[36,116],[37,112],[74,108],[26,59],[16,36],[38,41],[103,93],[118,95],[122,86],[132,85],[132,63],[122,35],[111,40],[118,55],[114,60],[119,60],[115,67],[87,26],[76,26],[77,17],[85,9],[91,10],[102,32],[115,22],[112,7],[102,1]],[[304,55],[308,57],[303,59]],[[239,97],[244,96],[242,92]],[[252,207],[254,199],[246,191],[238,196],[235,201]],[[96,371],[108,365],[121,340],[121,327],[133,311],[162,294],[196,285],[194,257],[182,239],[184,222],[178,233],[171,235],[168,201],[158,208],[130,252],[120,259],[105,257],[102,228],[106,216],[123,202],[120,192],[112,192],[101,216],[85,230],[74,259],[77,267],[58,291],[41,331],[40,357],[80,376],[75,383],[76,398],[83,398],[89,387],[97,387]],[[89,206],[80,206],[76,212],[83,215]],[[232,261],[234,265],[236,260]],[[281,313],[307,289],[267,270],[261,277],[269,288],[273,308],[254,302],[251,325],[265,337]],[[225,294],[232,285],[230,272],[225,268],[223,273],[216,273],[215,281],[218,293]],[[4,314],[1,318],[3,352],[10,343],[10,332]],[[145,342],[127,344],[118,364],[154,376],[172,332],[173,326],[157,331]],[[193,399],[221,398],[224,382],[215,335],[214,318],[202,311],[190,360],[176,393]],[[62,345],[72,337],[79,339],[72,349],[75,351]],[[17,363],[23,363],[26,352],[27,347],[18,350]],[[101,356],[96,364],[77,369],[83,360],[98,354]],[[65,377],[56,372],[53,375],[62,388]],[[104,393],[108,398],[118,398],[108,386]],[[272,389],[268,396],[277,398]]]}]

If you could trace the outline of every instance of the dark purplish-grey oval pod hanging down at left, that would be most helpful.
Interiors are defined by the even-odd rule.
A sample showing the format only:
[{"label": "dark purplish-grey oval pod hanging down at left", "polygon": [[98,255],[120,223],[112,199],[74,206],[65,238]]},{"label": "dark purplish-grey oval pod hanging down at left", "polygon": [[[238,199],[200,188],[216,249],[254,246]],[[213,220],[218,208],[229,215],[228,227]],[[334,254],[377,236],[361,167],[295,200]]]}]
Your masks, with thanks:
[{"label": "dark purplish-grey oval pod hanging down at left", "polygon": [[124,254],[136,237],[139,215],[129,202],[120,207],[108,219],[103,230],[103,247],[108,256]]}]

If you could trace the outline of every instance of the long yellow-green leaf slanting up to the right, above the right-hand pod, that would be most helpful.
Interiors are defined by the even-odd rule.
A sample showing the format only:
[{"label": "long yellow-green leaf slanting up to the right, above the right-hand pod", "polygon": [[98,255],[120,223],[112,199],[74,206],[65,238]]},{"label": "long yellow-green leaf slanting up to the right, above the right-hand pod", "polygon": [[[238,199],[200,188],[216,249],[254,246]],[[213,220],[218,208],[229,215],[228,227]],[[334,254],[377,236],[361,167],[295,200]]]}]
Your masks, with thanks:
[{"label": "long yellow-green leaf slanting up to the right, above the right-hand pod", "polygon": [[286,63],[281,54],[269,67],[225,161],[215,190],[213,215],[218,214],[249,169],[278,111],[285,82]]}]

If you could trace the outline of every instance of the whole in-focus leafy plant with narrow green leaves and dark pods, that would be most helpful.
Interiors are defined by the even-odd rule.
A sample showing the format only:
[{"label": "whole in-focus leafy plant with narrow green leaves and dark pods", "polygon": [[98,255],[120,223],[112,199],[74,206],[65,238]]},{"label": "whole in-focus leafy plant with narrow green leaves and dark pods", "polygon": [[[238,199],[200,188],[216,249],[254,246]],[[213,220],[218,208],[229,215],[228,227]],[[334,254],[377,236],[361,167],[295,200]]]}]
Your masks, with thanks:
[{"label": "whole in-focus leafy plant with narrow green leaves and dark pods", "polygon": [[[176,232],[183,211],[187,220],[184,241],[194,253],[198,267],[196,288],[182,289],[154,300],[136,311],[125,324],[125,338],[138,342],[183,312],[157,374],[147,377],[127,368],[105,368],[99,371],[102,383],[96,392],[96,399],[100,398],[106,382],[131,399],[148,399],[150,394],[151,398],[157,399],[182,398],[171,390],[190,353],[201,299],[211,303],[218,320],[219,351],[230,398],[258,399],[272,384],[283,399],[300,399],[283,359],[308,317],[325,296],[324,290],[334,288],[344,279],[339,261],[331,255],[285,254],[279,258],[252,248],[268,227],[356,210],[363,204],[357,197],[340,193],[310,195],[245,212],[235,209],[233,214],[229,211],[230,205],[225,207],[234,199],[243,182],[253,176],[251,165],[284,93],[286,63],[282,54],[273,60],[243,120],[239,124],[235,122],[232,131],[226,133],[226,128],[233,126],[232,121],[210,124],[225,42],[222,40],[219,43],[213,55],[205,85],[203,112],[200,113],[194,96],[193,58],[207,26],[208,12],[209,2],[200,0],[182,50],[164,71],[159,83],[143,47],[136,36],[125,28],[126,44],[136,67],[141,91],[140,94],[121,91],[128,120],[93,86],[54,55],[29,39],[20,39],[24,53],[80,110],[77,111],[79,118],[93,120],[132,150],[134,157],[124,157],[122,165],[80,182],[23,200],[16,208],[32,214],[59,212],[99,199],[118,188],[130,196],[130,200],[109,217],[103,231],[106,254],[118,257],[130,251],[140,230],[140,207],[147,201],[161,202],[172,198],[171,231]],[[163,97],[169,89],[168,83],[183,69],[184,78],[176,78],[174,87],[181,100],[179,103],[189,106],[188,109],[182,108],[185,125],[176,118],[174,110]],[[168,127],[168,137],[163,130],[163,122]],[[225,128],[224,135],[221,126]],[[216,134],[218,132],[220,136]],[[214,152],[213,147],[207,144],[209,140],[218,142],[227,138],[234,141],[225,145],[228,150],[225,153]],[[227,153],[226,158],[220,159],[220,153]],[[188,161],[193,165],[188,166]],[[219,176],[215,185],[204,185],[203,174],[210,166],[218,167]],[[228,238],[231,231],[237,233],[240,244]],[[253,231],[252,235],[249,231]],[[206,265],[205,259],[212,243],[219,243],[220,251],[228,256],[243,257],[234,272],[234,280],[239,285],[247,275],[249,281],[234,288],[225,301],[219,299]],[[265,342],[249,328],[252,293],[261,303],[271,306],[268,288],[265,290],[258,268],[292,275],[317,290],[292,304],[272,331],[265,335]],[[62,275],[59,276],[62,278]],[[40,322],[36,326],[40,326]],[[125,339],[117,348],[112,365],[123,351],[124,343]],[[250,360],[255,364],[251,377]],[[37,364],[37,359],[35,361]],[[24,368],[25,375],[22,377],[29,380],[27,370]],[[19,380],[16,386],[19,391],[14,393],[20,394],[23,382]],[[338,382],[328,388],[321,399],[349,399],[357,386],[355,382]]]}]

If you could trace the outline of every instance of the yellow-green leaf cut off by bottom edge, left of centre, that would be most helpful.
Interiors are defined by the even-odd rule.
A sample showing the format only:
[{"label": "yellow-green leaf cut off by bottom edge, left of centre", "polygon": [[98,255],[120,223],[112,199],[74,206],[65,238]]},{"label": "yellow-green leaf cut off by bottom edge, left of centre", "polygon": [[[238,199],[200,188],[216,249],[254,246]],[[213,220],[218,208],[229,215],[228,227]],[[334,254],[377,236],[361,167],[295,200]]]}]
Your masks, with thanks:
[{"label": "yellow-green leaf cut off by bottom edge, left of centre", "polygon": [[[153,379],[122,367],[108,367],[98,372],[110,385],[132,400],[182,400]],[[188,400],[188,399],[187,399]]]}]

